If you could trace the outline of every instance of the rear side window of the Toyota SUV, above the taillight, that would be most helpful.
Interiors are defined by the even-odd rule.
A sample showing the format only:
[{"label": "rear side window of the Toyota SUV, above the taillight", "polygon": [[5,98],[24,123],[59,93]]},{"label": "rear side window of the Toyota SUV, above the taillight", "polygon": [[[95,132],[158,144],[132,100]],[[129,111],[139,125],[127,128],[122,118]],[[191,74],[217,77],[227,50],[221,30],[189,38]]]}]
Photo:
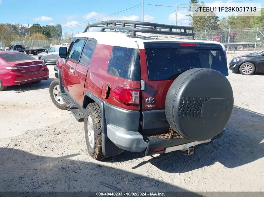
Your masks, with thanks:
[{"label": "rear side window of the Toyota SUV, above the taillight", "polygon": [[128,80],[140,81],[138,49],[114,46],[107,73]]}]

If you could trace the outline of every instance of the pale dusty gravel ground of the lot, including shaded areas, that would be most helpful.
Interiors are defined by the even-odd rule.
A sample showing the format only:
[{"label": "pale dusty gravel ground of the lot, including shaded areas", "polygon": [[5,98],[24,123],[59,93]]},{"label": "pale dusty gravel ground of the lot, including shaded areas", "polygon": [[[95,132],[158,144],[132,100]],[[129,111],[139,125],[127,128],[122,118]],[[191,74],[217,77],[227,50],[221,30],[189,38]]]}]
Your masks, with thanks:
[{"label": "pale dusty gravel ground of the lot, including shaded areas", "polygon": [[83,122],[59,110],[49,84],[0,92],[0,191],[264,191],[264,74],[229,73],[235,106],[222,137],[155,160],[123,152],[104,162],[86,149]]}]

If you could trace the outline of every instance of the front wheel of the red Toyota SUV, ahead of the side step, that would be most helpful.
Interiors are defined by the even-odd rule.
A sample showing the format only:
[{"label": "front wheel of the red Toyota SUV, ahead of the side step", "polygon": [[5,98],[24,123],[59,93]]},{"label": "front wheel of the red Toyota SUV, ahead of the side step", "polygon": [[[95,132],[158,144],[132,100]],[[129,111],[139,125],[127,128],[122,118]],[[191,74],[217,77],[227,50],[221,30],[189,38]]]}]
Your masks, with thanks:
[{"label": "front wheel of the red Toyota SUV, ahead of the side step", "polygon": [[50,83],[49,95],[50,95],[52,102],[54,103],[54,105],[57,108],[59,108],[61,110],[67,109],[67,105],[64,103],[64,101],[62,100],[62,97],[61,97],[61,90],[60,90],[60,85],[59,85],[58,79],[54,79]]}]

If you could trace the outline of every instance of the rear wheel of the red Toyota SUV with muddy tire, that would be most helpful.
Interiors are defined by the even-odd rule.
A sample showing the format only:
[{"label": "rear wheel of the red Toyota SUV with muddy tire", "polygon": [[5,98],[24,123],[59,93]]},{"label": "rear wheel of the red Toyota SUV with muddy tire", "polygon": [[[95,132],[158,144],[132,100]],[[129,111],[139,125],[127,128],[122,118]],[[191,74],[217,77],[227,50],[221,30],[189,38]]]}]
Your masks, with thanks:
[{"label": "rear wheel of the red Toyota SUV with muddy tire", "polygon": [[101,108],[98,103],[90,103],[84,115],[85,141],[89,155],[96,160],[103,160]]}]

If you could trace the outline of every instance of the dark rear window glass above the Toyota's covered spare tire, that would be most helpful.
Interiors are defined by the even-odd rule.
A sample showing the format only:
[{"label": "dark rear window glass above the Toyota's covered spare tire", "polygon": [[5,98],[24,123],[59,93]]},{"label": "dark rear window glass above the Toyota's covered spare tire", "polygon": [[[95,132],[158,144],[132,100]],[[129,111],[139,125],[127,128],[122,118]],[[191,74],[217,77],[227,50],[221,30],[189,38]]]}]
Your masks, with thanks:
[{"label": "dark rear window glass above the Toyota's covered spare tire", "polygon": [[[228,76],[227,61],[222,49],[180,47],[174,43],[145,48],[150,80],[170,80],[192,68],[212,68]],[[213,46],[211,47],[213,48]],[[216,47],[217,48],[217,47]]]}]

